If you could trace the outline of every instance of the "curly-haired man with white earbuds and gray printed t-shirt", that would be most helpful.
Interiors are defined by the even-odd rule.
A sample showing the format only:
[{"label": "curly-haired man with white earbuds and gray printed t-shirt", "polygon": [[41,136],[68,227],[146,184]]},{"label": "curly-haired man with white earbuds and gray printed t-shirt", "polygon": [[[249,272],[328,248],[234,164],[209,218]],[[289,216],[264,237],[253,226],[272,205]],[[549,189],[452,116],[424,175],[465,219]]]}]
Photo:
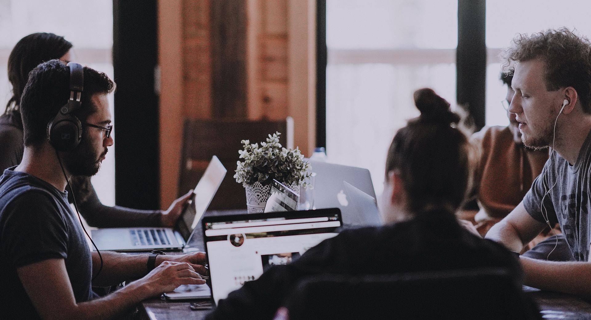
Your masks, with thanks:
[{"label": "curly-haired man with white earbuds and gray printed t-shirt", "polygon": [[521,257],[526,285],[591,298],[591,43],[567,28],[519,35],[505,52],[514,71],[508,111],[530,148],[550,158],[530,191],[486,237],[521,251],[559,223],[576,262]]}]

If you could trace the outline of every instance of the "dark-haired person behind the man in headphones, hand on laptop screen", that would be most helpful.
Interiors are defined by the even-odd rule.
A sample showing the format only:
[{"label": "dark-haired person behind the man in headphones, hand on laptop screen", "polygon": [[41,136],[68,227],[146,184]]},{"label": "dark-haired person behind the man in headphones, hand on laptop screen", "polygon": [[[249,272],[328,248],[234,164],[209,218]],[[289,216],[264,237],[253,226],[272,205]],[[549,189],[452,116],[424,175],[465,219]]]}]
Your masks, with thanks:
[{"label": "dark-haired person behind the man in headphones, hand on laptop screen", "polygon": [[[69,63],[72,59],[72,43],[48,32],[30,34],[18,41],[8,56],[8,80],[12,84],[12,97],[0,116],[0,173],[20,164],[24,152],[21,120],[21,96],[33,68],[45,61],[59,59]],[[64,101],[64,104],[66,102]],[[68,198],[74,196],[80,214],[92,227],[172,227],[189,200],[192,190],[178,198],[168,210],[137,210],[124,207],[109,207],[100,203],[89,177],[75,176],[70,179]]]}]

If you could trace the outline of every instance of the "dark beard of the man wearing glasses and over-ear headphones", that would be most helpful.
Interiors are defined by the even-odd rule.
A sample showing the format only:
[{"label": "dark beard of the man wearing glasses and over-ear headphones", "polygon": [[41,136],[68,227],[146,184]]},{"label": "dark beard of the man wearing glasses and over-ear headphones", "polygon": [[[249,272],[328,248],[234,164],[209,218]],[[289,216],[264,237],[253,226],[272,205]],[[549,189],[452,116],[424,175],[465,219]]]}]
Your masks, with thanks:
[{"label": "dark beard of the man wearing glasses and over-ear headphones", "polygon": [[64,165],[71,175],[83,175],[92,177],[99,172],[100,159],[106,155],[107,150],[102,154],[93,151],[90,148],[90,141],[87,140],[88,135],[83,135],[80,144],[70,152],[64,153]]}]

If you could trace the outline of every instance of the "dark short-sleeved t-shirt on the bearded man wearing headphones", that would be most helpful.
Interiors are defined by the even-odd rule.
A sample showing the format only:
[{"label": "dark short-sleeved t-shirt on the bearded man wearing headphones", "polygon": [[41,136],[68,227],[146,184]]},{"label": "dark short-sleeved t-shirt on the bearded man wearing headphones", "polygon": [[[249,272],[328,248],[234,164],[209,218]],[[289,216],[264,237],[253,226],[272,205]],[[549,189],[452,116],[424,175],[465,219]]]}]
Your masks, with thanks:
[{"label": "dark short-sleeved t-shirt on the bearded man wearing headphones", "polygon": [[38,319],[18,268],[63,259],[74,298],[84,302],[94,297],[92,256],[67,193],[14,168],[0,177],[0,310],[2,319]]}]

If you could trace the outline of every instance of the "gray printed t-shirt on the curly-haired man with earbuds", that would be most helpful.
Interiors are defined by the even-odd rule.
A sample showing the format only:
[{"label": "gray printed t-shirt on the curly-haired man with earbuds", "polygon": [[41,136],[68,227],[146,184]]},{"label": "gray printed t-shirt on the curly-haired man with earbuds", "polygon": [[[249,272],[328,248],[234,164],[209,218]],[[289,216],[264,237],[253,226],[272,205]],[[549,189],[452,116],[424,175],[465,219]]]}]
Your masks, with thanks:
[{"label": "gray printed t-shirt on the curly-haired man with earbuds", "polygon": [[[589,260],[590,168],[591,132],[587,135],[574,165],[553,152],[544,165],[542,174],[534,180],[523,199],[525,210],[535,220],[541,223],[549,220],[550,224],[560,224],[570,251],[577,261]],[[542,198],[545,210],[541,205]]]}]

